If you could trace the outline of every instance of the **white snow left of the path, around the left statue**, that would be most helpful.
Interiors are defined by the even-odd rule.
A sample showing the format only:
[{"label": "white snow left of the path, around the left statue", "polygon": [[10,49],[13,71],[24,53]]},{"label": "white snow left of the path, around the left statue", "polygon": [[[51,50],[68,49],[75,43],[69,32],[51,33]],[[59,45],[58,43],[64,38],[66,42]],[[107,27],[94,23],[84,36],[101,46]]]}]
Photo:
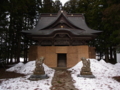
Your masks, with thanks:
[{"label": "white snow left of the path, around the left statue", "polygon": [[7,69],[6,71],[14,71],[17,73],[25,74],[25,77],[11,78],[2,80],[0,90],[50,90],[51,81],[54,76],[55,70],[43,64],[45,73],[49,76],[48,79],[39,81],[30,81],[28,78],[32,75],[35,68],[35,61],[28,62],[27,64],[18,63],[15,66]]}]

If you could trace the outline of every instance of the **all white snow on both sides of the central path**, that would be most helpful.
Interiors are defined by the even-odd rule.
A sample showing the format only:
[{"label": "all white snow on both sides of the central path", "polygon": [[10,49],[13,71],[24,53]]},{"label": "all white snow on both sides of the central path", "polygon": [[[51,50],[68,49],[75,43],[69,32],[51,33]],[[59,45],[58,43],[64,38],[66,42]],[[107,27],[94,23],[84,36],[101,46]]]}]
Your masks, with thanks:
[{"label": "all white snow on both sides of the central path", "polygon": [[[91,70],[96,78],[77,77],[80,74],[82,62],[68,69],[71,71],[73,82],[78,90],[120,90],[120,83],[112,79],[113,76],[120,76],[120,63],[112,65],[103,60],[97,61],[90,59]],[[0,84],[0,90],[50,90],[51,81],[54,76],[54,70],[43,64],[49,79],[30,81],[28,78],[33,73],[35,61],[27,64],[18,63],[7,71],[14,71],[25,74],[25,77],[3,79]]]}]

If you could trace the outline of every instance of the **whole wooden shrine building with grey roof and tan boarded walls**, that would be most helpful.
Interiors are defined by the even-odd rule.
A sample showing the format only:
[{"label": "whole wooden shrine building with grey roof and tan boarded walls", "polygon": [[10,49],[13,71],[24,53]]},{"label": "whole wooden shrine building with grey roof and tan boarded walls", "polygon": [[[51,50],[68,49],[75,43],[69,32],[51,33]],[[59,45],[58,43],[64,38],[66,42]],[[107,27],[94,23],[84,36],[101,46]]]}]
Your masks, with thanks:
[{"label": "whole wooden shrine building with grey roof and tan boarded walls", "polygon": [[87,45],[100,31],[90,29],[83,14],[42,13],[37,26],[22,31],[37,42],[29,49],[29,60],[45,57],[49,67],[72,67],[81,57],[95,58],[95,48]]}]

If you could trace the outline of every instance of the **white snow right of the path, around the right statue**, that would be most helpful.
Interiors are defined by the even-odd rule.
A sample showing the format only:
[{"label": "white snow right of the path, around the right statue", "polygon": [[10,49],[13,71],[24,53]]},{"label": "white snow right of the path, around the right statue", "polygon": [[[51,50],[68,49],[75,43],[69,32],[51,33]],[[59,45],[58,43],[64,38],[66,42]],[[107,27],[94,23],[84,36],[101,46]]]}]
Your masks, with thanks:
[{"label": "white snow right of the path, around the right statue", "polygon": [[77,77],[80,74],[82,61],[68,69],[78,90],[120,90],[120,83],[113,76],[120,76],[120,63],[112,65],[104,60],[90,59],[91,71],[96,78]]}]

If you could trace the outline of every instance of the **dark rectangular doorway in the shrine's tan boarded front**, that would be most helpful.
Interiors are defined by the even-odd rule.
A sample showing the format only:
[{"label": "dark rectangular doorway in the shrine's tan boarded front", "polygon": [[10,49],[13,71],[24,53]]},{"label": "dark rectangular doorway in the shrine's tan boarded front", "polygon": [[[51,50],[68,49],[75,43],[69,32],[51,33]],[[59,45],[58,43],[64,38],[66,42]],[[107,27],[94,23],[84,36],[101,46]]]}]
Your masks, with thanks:
[{"label": "dark rectangular doorway in the shrine's tan boarded front", "polygon": [[57,66],[58,67],[66,67],[66,54],[58,54],[57,55]]}]

